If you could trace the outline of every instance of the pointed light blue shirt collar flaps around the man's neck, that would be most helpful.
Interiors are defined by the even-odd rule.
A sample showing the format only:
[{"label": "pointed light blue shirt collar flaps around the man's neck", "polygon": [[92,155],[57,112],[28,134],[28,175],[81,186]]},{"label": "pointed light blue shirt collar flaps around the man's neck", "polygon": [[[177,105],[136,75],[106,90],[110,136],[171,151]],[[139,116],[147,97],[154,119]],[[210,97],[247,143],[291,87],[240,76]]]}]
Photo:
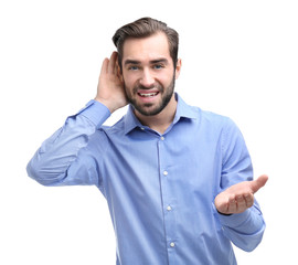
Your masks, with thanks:
[{"label": "pointed light blue shirt collar flaps around the man's neck", "polygon": [[[183,102],[183,99],[175,93],[175,99],[177,99],[177,110],[173,119],[173,124],[177,124],[181,118],[187,119],[195,119],[198,118],[198,113],[194,110],[193,107],[189,106],[187,103]],[[142,128],[143,126],[138,120],[134,113],[134,107],[129,105],[127,114],[124,118],[125,123],[125,134],[127,135],[135,128],[139,127]]]}]

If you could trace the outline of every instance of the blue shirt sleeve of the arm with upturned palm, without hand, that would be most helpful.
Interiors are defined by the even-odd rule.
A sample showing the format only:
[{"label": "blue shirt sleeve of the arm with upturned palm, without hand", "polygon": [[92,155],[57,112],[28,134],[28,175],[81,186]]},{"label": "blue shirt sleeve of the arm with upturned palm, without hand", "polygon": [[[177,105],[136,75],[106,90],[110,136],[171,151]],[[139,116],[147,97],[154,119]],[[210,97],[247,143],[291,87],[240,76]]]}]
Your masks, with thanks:
[{"label": "blue shirt sleeve of the arm with upturned palm, without hand", "polygon": [[[253,167],[245,141],[232,121],[224,132],[223,153],[222,190],[237,182],[253,180]],[[256,201],[244,213],[219,214],[219,219],[225,236],[237,247],[251,252],[260,243],[265,222]]]}]

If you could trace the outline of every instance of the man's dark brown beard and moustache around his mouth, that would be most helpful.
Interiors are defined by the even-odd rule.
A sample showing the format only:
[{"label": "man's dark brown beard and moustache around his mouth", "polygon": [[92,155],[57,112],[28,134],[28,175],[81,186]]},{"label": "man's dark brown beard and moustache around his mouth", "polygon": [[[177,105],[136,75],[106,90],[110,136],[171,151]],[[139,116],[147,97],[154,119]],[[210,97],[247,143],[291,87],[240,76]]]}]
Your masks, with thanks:
[{"label": "man's dark brown beard and moustache around his mouth", "polygon": [[[132,88],[132,93],[126,87],[126,84],[124,82],[124,87],[126,92],[126,96],[128,102],[134,106],[134,108],[142,114],[143,116],[155,116],[161,113],[169,102],[172,98],[173,92],[174,92],[174,82],[175,82],[175,76],[173,75],[173,78],[168,87],[163,87],[161,84],[155,84],[150,87],[145,87],[142,85],[136,85]],[[139,89],[152,89],[156,88],[158,89],[159,94],[161,94],[161,100],[155,106],[153,103],[146,103],[146,104],[139,104],[136,99],[138,91]],[[135,95],[135,96],[134,96]]]}]

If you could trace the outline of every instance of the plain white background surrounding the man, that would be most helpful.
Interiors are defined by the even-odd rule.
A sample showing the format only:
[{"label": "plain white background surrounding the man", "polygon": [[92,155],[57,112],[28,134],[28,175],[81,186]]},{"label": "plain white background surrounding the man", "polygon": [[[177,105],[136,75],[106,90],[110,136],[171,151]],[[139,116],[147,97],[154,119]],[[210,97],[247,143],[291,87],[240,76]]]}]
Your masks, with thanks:
[{"label": "plain white background surrounding the man", "polygon": [[[267,230],[240,265],[298,264],[297,1],[8,0],[0,3],[0,264],[115,264],[95,187],[45,188],[25,166],[95,96],[116,29],[145,15],[180,33],[185,102],[230,116],[251,151]],[[108,123],[117,120],[118,110]]]}]

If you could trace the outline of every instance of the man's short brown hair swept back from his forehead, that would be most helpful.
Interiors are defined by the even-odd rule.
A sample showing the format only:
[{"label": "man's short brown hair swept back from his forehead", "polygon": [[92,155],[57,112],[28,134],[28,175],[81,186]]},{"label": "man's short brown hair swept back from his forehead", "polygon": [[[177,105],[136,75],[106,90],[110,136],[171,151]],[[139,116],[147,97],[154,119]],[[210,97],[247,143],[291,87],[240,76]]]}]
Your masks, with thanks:
[{"label": "man's short brown hair swept back from his forehead", "polygon": [[179,34],[175,30],[169,28],[164,22],[151,19],[141,18],[135,22],[128,23],[116,31],[113,36],[113,42],[118,51],[118,62],[121,68],[124,43],[128,38],[141,39],[153,35],[158,32],[163,32],[168,39],[170,56],[175,67],[178,60]]}]

